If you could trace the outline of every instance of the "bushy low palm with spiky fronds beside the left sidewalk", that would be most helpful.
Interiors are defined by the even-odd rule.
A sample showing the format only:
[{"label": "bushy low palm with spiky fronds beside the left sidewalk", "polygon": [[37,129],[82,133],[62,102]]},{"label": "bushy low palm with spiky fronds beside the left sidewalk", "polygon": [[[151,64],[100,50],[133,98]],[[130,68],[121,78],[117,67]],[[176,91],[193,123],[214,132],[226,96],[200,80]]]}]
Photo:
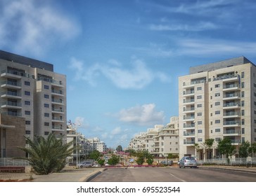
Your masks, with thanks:
[{"label": "bushy low palm with spiky fronds beside the left sidewalk", "polygon": [[68,144],[63,143],[63,137],[57,139],[54,134],[44,137],[34,137],[34,141],[25,137],[29,147],[18,147],[20,150],[29,154],[28,158],[22,158],[30,162],[32,169],[37,174],[49,174],[60,172],[66,165],[66,158],[72,154],[74,148],[73,141]]}]

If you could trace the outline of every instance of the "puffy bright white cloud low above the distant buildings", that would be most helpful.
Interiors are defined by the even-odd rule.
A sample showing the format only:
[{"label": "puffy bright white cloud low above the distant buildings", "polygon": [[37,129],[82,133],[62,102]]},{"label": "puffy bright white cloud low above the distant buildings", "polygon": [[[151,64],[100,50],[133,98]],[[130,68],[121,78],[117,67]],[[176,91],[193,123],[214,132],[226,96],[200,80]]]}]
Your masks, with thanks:
[{"label": "puffy bright white cloud low above the distant buildings", "polygon": [[163,123],[165,113],[163,111],[156,111],[155,104],[144,104],[129,109],[122,109],[117,114],[117,118],[124,123],[155,125]]}]

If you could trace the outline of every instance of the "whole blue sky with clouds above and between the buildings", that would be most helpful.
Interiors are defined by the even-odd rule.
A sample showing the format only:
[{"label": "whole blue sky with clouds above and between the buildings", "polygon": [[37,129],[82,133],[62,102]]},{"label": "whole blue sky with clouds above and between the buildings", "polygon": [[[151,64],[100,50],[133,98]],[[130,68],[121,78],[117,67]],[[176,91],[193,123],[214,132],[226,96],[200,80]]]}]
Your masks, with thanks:
[{"label": "whole blue sky with clouds above and between the buildings", "polygon": [[178,116],[190,66],[256,63],[251,0],[0,0],[0,50],[67,76],[68,120],[86,137],[126,147]]}]

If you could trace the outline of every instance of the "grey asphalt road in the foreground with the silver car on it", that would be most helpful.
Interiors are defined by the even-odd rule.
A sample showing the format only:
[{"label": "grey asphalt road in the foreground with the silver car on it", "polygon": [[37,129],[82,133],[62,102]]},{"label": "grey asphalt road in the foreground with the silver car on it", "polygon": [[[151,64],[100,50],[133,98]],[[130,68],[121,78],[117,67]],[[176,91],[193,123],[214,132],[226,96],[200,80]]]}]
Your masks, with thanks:
[{"label": "grey asphalt road in the foreground with the silver car on it", "polygon": [[91,182],[256,182],[256,173],[207,168],[113,168]]}]

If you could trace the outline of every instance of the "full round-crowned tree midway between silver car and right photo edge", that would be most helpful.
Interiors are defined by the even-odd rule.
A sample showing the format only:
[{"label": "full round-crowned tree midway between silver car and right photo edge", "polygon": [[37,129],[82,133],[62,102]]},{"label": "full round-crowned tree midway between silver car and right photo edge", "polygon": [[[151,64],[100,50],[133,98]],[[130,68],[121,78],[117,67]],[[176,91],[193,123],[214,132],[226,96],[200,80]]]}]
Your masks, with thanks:
[{"label": "full round-crowned tree midway between silver car and right photo edge", "polygon": [[231,144],[231,139],[225,137],[224,139],[218,141],[217,149],[222,155],[226,155],[227,163],[230,163],[229,157],[235,153],[236,146]]}]

